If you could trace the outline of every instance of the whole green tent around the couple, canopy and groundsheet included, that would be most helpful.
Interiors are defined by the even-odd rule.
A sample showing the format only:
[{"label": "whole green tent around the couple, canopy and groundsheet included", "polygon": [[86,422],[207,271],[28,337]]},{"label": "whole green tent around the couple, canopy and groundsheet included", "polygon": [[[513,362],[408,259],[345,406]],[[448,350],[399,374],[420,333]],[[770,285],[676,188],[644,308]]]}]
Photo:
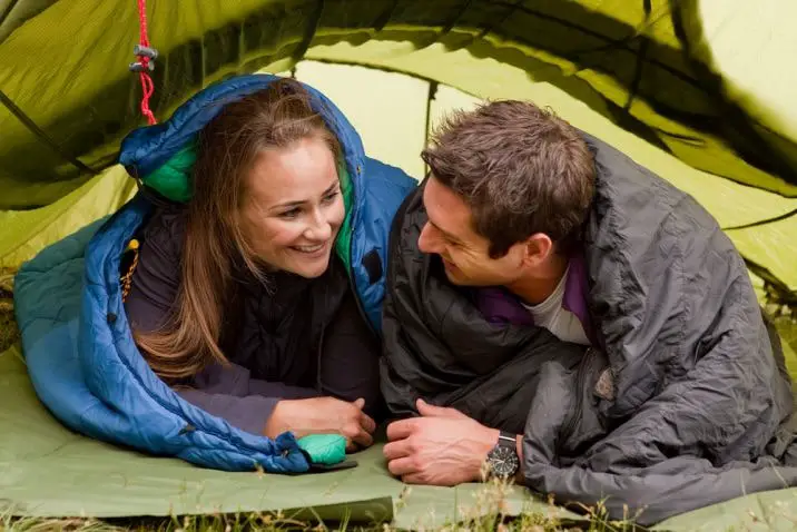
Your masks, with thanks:
[{"label": "whole green tent around the couple, canopy and groundsheet included", "polygon": [[[751,276],[797,299],[797,19],[793,0],[215,0],[147,2],[158,118],[238,72],[324,91],[370,155],[421,177],[450,109],[522,98],[626,151],[702,203]],[[0,267],[122,205],[115,164],[146,124],[132,0],[0,0]],[[797,358],[787,347],[791,370]],[[0,354],[0,506],[35,515],[165,515],[313,508],[318,515],[433,524],[483,512],[480,486],[414,489],[378,449],[360,467],[305,477],[206,471],[89,441],[38,402],[18,347]],[[793,525],[797,491],[675,518],[708,530]],[[488,497],[489,499],[489,497]],[[508,511],[534,502],[520,490]],[[775,510],[774,510],[775,509]],[[758,520],[758,521],[756,521]]]}]

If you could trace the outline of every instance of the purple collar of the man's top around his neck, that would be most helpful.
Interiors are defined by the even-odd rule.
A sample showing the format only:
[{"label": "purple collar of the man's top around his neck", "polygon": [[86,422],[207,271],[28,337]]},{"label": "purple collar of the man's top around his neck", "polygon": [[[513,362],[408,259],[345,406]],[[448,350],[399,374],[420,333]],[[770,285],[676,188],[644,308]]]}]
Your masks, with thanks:
[{"label": "purple collar of the man's top around his neck", "polygon": [[[587,337],[594,344],[594,331],[587,308],[589,286],[587,269],[581,253],[570,257],[570,269],[564,280],[562,307],[573,313],[581,322]],[[501,287],[474,289],[476,306],[488,322],[494,324],[534,325],[534,318],[520,298]]]}]

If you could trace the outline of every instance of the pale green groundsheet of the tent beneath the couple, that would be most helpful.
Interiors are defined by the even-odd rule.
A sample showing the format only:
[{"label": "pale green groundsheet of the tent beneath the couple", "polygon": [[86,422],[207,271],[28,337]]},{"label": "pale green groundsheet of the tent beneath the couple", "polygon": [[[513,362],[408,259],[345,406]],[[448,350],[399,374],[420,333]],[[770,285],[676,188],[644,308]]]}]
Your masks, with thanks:
[{"label": "pale green groundsheet of the tent beneath the couple", "polygon": [[[227,473],[148,456],[80,436],[36,396],[19,347],[0,354],[0,512],[30,516],[168,516],[283,510],[296,519],[392,521],[405,529],[521,512],[584,518],[510,487],[407,489],[387,472],[381,445],[354,455],[358,466],[284,476]],[[665,530],[793,530],[797,489],[766,492],[682,514]]]}]

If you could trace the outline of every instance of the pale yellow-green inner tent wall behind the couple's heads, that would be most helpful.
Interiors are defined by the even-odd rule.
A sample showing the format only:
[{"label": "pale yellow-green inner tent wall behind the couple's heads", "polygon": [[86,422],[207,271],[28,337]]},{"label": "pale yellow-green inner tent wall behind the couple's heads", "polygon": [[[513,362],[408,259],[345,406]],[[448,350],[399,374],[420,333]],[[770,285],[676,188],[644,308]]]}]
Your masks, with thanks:
[{"label": "pale yellow-green inner tent wall behind the couple's heads", "polygon": [[[406,51],[400,43],[368,41],[357,47],[338,43],[307,51],[314,60],[301,61],[296,79],[322,89],[361,132],[367,151],[397,166],[411,176],[424,174],[417,156],[426,131],[434,129],[452,109],[471,108],[480,98],[451,85],[464,76],[475,93],[530,99],[555,109],[573,126],[617,146],[631,158],[693,196],[719,221],[720,227],[744,225],[781,216],[797,208],[789,199],[752,189],[695,169],[640,137],[620,129],[600,112],[547,82],[531,82],[525,71],[491,59],[479,59],[466,50],[446,51],[442,45]],[[346,63],[332,63],[331,58]],[[351,63],[351,65],[350,65]],[[356,63],[356,66],[355,66]],[[365,66],[358,66],[365,65]],[[382,70],[372,67],[382,65]],[[289,75],[291,72],[285,72]],[[439,82],[431,81],[436,76]],[[431,97],[432,99],[427,100]],[[395,102],[401,100],[401,106]],[[384,125],[390,124],[390,129]],[[47,207],[0,213],[0,265],[18,266],[47,243],[63,237],[120,205],[135,187],[118,165]],[[115,189],[115,187],[119,187]],[[118,190],[118,191],[117,191]],[[79,200],[78,200],[79,198]],[[124,203],[124,201],[121,201]],[[730,230],[742,256],[765,267],[784,287],[781,294],[797,297],[797,217]],[[8,252],[7,252],[8,250]],[[766,275],[756,270],[756,276]],[[762,289],[760,279],[756,279]]]}]

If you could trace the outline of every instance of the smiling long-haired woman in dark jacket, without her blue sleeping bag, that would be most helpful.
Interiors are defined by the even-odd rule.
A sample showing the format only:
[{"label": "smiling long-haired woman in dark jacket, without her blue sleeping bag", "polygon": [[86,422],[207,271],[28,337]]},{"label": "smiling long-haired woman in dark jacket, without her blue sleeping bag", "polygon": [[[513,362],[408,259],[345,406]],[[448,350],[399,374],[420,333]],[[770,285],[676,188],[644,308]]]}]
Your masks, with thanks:
[{"label": "smiling long-haired woman in dark jacket, without her blue sleeping bag", "polygon": [[204,126],[191,197],[139,231],[125,307],[150,367],[188,402],[249,433],[338,433],[351,450],[372,443],[382,408],[367,287],[347,272],[351,208],[367,198],[352,197],[317,104],[279,79]]}]

